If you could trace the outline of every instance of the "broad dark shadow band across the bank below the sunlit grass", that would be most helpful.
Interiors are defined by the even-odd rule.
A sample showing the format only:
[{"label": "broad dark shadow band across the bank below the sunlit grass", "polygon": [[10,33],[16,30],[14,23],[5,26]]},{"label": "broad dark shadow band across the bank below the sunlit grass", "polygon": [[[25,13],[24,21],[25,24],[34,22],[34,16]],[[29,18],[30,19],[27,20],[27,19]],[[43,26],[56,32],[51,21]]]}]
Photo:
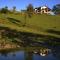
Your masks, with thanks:
[{"label": "broad dark shadow band across the bank below the sunlit grass", "polygon": [[[50,35],[42,35],[42,34],[34,34],[28,32],[20,32],[16,30],[12,30],[8,27],[0,26],[1,38],[8,38],[13,43],[17,43],[22,46],[40,46],[40,45],[52,45],[52,44],[60,44],[60,38],[50,36]],[[42,41],[42,42],[41,42]]]}]

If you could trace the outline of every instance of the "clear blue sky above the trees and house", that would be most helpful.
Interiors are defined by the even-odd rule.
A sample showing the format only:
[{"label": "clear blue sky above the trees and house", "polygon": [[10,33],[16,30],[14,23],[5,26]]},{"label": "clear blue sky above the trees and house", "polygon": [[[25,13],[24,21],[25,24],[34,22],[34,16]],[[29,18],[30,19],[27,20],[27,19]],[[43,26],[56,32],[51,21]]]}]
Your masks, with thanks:
[{"label": "clear blue sky above the trees and house", "polygon": [[52,8],[54,5],[60,4],[60,0],[0,0],[0,8],[8,6],[9,9],[12,9],[13,6],[16,6],[19,11],[26,9],[28,4],[32,4],[34,7],[46,5]]}]

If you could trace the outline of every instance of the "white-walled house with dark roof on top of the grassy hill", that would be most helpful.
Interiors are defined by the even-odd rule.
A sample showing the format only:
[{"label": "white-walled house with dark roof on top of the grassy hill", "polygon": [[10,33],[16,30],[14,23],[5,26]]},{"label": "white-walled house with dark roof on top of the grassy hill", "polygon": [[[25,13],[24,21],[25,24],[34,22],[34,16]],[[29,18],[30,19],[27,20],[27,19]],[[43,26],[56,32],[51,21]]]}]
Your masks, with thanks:
[{"label": "white-walled house with dark roof on top of the grassy hill", "polygon": [[51,9],[48,8],[47,6],[41,6],[34,9],[35,13],[40,13],[40,14],[43,14],[43,13],[49,14],[50,11]]}]

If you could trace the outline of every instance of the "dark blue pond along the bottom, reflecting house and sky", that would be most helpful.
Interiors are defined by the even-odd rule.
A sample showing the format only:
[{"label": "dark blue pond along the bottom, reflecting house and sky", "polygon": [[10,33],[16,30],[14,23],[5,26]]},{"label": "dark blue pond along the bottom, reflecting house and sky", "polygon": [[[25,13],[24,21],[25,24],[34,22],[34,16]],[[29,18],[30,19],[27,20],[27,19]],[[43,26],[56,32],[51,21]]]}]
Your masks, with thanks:
[{"label": "dark blue pond along the bottom, reflecting house and sky", "polygon": [[60,60],[60,47],[3,51],[0,52],[0,60]]}]

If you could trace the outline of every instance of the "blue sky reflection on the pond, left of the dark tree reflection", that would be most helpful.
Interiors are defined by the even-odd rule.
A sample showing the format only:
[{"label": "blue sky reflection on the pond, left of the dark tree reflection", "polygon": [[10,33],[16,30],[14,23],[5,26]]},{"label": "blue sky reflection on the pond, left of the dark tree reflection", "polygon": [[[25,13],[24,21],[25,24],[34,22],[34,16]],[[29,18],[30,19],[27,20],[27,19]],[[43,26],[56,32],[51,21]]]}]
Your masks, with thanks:
[{"label": "blue sky reflection on the pond, left of the dark tree reflection", "polygon": [[0,60],[24,60],[24,51],[0,53]]}]

